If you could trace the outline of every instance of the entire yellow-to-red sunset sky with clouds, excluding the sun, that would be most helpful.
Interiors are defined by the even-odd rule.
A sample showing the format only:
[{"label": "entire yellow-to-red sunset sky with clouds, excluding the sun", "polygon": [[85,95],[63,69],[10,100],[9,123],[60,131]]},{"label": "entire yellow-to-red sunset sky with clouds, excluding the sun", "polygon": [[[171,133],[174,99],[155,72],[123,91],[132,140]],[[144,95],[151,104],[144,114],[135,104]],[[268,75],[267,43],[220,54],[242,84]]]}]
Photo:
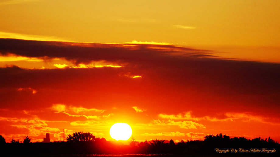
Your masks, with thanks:
[{"label": "entire yellow-to-red sunset sky with clouds, excluding the sun", "polygon": [[0,135],[280,141],[280,1],[0,0]]}]

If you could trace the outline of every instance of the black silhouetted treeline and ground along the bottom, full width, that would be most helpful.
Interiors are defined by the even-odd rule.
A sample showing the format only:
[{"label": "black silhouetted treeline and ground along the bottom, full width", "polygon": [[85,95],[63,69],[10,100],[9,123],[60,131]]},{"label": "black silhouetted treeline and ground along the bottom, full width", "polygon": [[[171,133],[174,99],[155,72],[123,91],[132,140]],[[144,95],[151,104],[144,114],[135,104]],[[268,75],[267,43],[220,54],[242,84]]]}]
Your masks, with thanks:
[{"label": "black silhouetted treeline and ground along the bottom, full width", "polygon": [[[188,140],[175,143],[170,140],[151,140],[138,142],[132,137],[129,145],[124,145],[121,141],[107,141],[105,138],[95,137],[89,132],[75,132],[67,136],[67,142],[50,143],[32,143],[26,136],[23,143],[12,138],[10,143],[5,142],[5,138],[0,135],[1,154],[170,154],[170,155],[225,155],[216,151],[219,149],[250,149],[267,148],[274,149],[273,153],[254,153],[257,155],[278,156],[280,144],[269,138],[254,138],[252,140],[244,137],[230,138],[227,135],[206,135],[204,140]],[[17,150],[16,152],[13,150]],[[234,152],[228,152],[226,155],[236,155]],[[244,152],[238,155],[252,155]]]}]

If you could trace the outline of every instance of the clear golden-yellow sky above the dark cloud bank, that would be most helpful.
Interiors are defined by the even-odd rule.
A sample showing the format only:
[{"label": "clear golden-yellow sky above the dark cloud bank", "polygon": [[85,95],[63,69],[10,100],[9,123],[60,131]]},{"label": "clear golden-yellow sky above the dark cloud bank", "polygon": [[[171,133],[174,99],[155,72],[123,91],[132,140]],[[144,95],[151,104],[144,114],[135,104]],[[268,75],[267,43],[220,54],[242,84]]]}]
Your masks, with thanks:
[{"label": "clear golden-yellow sky above the dark cloud bank", "polygon": [[94,43],[165,42],[280,62],[279,7],[278,0],[2,0],[0,32]]}]

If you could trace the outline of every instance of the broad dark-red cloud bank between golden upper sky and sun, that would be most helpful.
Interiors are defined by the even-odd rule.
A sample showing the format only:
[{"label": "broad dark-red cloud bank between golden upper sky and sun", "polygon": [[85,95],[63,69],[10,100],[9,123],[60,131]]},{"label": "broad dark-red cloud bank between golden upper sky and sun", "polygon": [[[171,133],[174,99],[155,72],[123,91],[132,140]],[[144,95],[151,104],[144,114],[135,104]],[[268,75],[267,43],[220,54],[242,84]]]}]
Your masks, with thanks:
[{"label": "broad dark-red cloud bank between golden upper sky and sun", "polygon": [[[230,122],[233,129],[238,126],[241,130],[246,130],[245,124],[250,117],[253,121],[261,119],[257,121],[260,127],[278,124],[280,118],[280,64],[219,59],[207,50],[156,44],[0,39],[0,53],[3,56],[35,57],[46,62],[60,58],[76,65],[105,61],[122,66],[79,69],[2,67],[0,108],[6,116],[3,116],[4,120],[19,118],[17,115],[9,117],[12,115],[4,114],[5,110],[43,110],[56,116],[36,114],[37,118],[68,121],[69,125],[65,127],[72,130],[75,130],[74,126],[99,124],[96,120],[89,121],[89,118],[112,118],[111,122],[129,119],[135,125],[169,128],[162,132],[176,133],[182,129],[197,132],[195,129],[200,129],[199,133],[204,135],[212,133],[210,131],[227,131],[222,127],[224,124],[218,124],[229,124],[225,120],[227,118],[237,121],[246,115],[246,120]],[[70,108],[81,111],[54,111],[51,109],[54,104],[65,104],[69,111]],[[192,111],[192,117],[180,115],[188,111]],[[187,135],[186,131],[183,133]],[[235,130],[224,133],[252,134]],[[138,138],[141,134],[167,135],[159,131],[139,130]],[[262,134],[270,136],[273,133],[267,129]]]}]

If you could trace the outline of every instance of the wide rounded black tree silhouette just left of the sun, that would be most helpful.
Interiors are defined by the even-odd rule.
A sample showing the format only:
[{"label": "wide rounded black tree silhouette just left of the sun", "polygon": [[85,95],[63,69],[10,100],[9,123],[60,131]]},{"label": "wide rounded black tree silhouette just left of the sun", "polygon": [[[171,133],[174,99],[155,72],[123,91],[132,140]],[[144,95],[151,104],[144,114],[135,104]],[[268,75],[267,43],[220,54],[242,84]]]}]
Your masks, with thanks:
[{"label": "wide rounded black tree silhouette just left of the sun", "polygon": [[78,141],[95,141],[95,136],[89,132],[75,132],[73,135],[67,136],[67,142],[78,142]]}]

